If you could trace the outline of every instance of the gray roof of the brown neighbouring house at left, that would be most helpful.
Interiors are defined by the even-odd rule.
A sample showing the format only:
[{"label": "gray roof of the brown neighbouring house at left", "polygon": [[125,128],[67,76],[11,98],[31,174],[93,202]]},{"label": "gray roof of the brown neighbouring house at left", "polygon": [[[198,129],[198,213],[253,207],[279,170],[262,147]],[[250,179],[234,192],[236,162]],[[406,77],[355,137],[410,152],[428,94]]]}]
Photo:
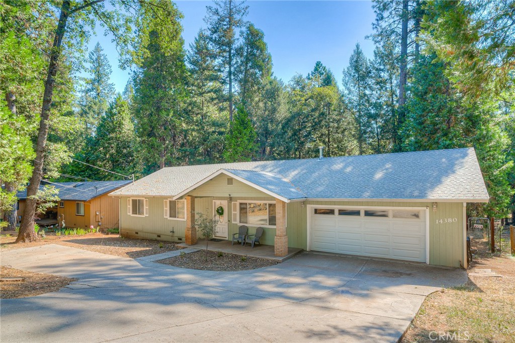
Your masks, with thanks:
[{"label": "gray roof of the brown neighbouring house at left", "polygon": [[[52,184],[41,182],[39,188],[43,189],[44,185],[55,186],[59,190],[58,196],[61,200],[88,201],[129,183],[132,183],[132,180],[56,182]],[[16,196],[22,200],[26,199],[27,190],[16,193]]]}]

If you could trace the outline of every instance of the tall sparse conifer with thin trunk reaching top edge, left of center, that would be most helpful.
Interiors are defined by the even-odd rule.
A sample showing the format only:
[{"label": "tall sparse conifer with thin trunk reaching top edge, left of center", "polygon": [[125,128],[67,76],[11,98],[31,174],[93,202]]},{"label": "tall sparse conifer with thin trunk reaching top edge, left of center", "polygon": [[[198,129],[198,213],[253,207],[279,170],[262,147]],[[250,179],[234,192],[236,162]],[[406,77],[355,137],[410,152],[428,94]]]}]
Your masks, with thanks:
[{"label": "tall sparse conifer with thin trunk reaching top edge, left of center", "polygon": [[232,122],[237,31],[245,26],[248,6],[245,2],[215,0],[214,6],[207,6],[207,11],[204,21],[208,25],[210,43],[215,51],[216,66],[223,75],[223,83],[228,87],[229,121]]}]

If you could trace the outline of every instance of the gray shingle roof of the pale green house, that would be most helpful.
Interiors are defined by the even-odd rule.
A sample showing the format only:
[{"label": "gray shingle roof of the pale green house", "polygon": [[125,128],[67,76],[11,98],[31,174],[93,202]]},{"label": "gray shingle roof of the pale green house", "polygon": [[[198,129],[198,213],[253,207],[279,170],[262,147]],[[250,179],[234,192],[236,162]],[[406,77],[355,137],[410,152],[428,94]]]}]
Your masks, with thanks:
[{"label": "gray shingle roof of the pale green house", "polygon": [[169,167],[111,194],[174,196],[220,169],[289,199],[299,193],[346,200],[489,198],[473,148]]}]

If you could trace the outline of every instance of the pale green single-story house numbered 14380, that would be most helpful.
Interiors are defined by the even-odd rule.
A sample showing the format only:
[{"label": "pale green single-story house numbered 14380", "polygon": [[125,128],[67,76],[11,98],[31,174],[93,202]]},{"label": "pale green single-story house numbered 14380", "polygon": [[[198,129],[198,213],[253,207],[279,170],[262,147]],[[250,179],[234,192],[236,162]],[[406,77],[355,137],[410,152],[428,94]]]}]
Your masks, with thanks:
[{"label": "pale green single-story house numbered 14380", "polygon": [[[120,231],[195,244],[195,212],[216,238],[264,228],[288,247],[467,266],[466,204],[488,202],[473,148],[163,168],[110,194]],[[221,215],[218,214],[221,213]]]}]

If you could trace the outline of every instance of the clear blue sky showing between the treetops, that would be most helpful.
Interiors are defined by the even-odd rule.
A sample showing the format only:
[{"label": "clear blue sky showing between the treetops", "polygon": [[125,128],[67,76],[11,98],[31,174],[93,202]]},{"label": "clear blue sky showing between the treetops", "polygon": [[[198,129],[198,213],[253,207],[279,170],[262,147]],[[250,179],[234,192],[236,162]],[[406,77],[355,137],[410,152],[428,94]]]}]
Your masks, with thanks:
[{"label": "clear blue sky showing between the treetops", "polygon": [[[188,48],[199,28],[204,27],[208,1],[177,1],[184,14],[182,20],[184,47]],[[374,12],[368,1],[248,1],[247,20],[265,33],[272,55],[273,74],[288,82],[296,73],[307,75],[316,61],[334,73],[341,85],[341,76],[356,43],[365,55],[373,56],[373,43],[365,39],[372,33]],[[118,54],[111,37],[102,30],[91,37],[89,48],[100,42],[111,62],[111,75],[116,90],[122,92],[129,71],[118,68]]]}]

